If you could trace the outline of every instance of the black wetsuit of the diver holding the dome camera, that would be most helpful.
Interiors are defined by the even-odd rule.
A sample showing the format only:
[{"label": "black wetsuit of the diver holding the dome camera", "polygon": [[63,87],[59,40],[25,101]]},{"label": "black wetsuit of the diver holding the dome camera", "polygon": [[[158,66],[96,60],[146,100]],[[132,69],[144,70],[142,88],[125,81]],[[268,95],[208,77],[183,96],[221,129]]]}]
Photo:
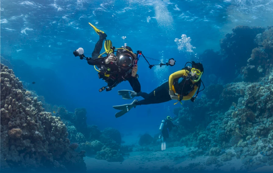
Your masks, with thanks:
[{"label": "black wetsuit of the diver holding the dome camera", "polygon": [[[102,48],[102,43],[103,43],[104,38],[100,37],[98,42],[95,45],[94,51],[92,52],[92,58],[88,58],[87,59],[87,63],[89,65],[96,65],[97,67],[101,67],[102,65],[105,66],[105,69],[107,69],[107,74],[110,74],[111,77],[107,78],[106,81],[108,83],[108,87],[111,87],[112,85],[114,85],[116,83],[116,81],[120,81],[122,82],[124,79],[122,79],[122,76],[126,75],[125,71],[120,72],[119,68],[117,65],[115,65],[114,63],[110,62],[109,64],[105,64],[105,58],[106,57],[101,57],[98,58],[98,56],[100,55],[100,51]],[[126,77],[124,77],[126,80],[129,81],[130,85],[132,86],[133,90],[135,92],[140,92],[141,88],[140,88],[140,83],[138,81],[138,79],[136,77],[132,77],[132,73],[128,73]]]}]

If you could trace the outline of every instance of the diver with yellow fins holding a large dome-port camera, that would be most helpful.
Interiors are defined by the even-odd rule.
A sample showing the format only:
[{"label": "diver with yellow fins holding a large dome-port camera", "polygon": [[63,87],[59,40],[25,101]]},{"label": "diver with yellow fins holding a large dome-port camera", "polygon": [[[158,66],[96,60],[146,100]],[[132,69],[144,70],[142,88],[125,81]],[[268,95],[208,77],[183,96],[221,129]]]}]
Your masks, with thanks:
[{"label": "diver with yellow fins holding a large dome-port camera", "polygon": [[[105,80],[107,86],[103,86],[99,91],[112,90],[122,81],[128,80],[133,90],[140,92],[140,83],[138,81],[137,75],[137,55],[133,53],[129,46],[122,46],[121,48],[112,47],[112,41],[106,40],[107,35],[93,26],[91,23],[89,25],[96,31],[99,35],[99,40],[95,45],[94,51],[92,52],[92,57],[85,57],[83,55],[83,48],[78,48],[73,52],[75,57],[79,56],[80,59],[87,60],[89,65],[97,66],[99,79]],[[105,40],[105,52],[101,55],[107,53],[106,57],[101,57],[100,51],[102,48],[103,41]],[[115,51],[117,49],[118,51]],[[116,55],[114,54],[116,52]],[[140,51],[141,52],[141,51]]]}]

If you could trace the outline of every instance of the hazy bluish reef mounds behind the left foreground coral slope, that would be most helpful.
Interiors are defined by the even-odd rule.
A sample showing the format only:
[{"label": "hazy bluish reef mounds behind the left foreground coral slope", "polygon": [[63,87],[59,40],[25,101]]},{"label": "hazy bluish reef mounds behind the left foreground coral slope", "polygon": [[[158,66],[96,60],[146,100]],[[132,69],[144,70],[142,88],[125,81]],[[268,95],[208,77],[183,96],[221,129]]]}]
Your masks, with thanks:
[{"label": "hazy bluish reef mounds behind the left foreground coral slope", "polygon": [[[109,150],[119,151],[121,148],[121,134],[118,130],[113,128],[106,128],[103,131],[98,129],[97,125],[87,125],[86,124],[86,110],[84,108],[75,109],[75,112],[69,112],[64,107],[58,107],[56,105],[52,106],[45,103],[45,107],[48,111],[53,111],[57,109],[56,115],[60,116],[67,125],[68,138],[71,142],[78,144],[77,150],[85,150],[88,156],[92,156],[97,153],[95,158],[104,159],[107,161],[119,161],[117,159],[118,155],[122,152],[118,152],[114,155],[109,153],[109,155],[104,154],[106,152],[101,152],[103,147]],[[128,152],[127,152],[128,153]],[[125,154],[123,152],[123,154]],[[112,158],[117,157],[117,158]]]}]

